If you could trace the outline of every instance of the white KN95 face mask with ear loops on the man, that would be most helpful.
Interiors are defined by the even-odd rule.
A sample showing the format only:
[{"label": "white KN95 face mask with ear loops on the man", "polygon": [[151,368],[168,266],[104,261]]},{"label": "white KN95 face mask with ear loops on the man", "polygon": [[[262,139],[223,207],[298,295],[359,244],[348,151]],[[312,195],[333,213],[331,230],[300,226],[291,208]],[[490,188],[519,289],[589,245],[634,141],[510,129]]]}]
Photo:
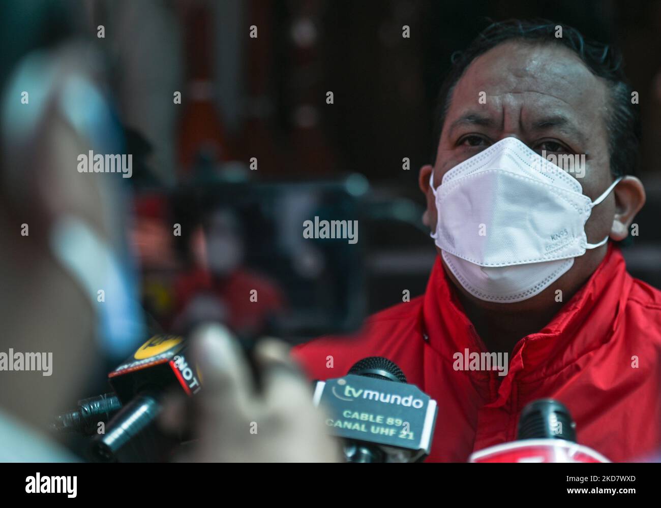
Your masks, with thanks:
[{"label": "white KN95 face mask with ear loops on the man", "polygon": [[514,137],[451,168],[434,189],[432,233],[447,268],[471,295],[514,303],[541,293],[567,272],[588,243],[591,201],[576,178]]}]

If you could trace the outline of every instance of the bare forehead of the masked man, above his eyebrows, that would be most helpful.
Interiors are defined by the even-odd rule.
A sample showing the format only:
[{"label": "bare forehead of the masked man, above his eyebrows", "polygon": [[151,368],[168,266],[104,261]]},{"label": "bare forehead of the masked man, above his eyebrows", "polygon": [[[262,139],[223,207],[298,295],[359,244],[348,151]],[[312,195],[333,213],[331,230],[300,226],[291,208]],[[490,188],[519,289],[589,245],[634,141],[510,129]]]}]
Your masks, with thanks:
[{"label": "bare forehead of the masked man, above his eyebrows", "polygon": [[448,116],[464,115],[466,108],[483,104],[483,110],[530,106],[529,114],[543,108],[545,116],[553,110],[594,118],[604,104],[605,91],[603,81],[568,48],[512,41],[469,65],[455,87]]}]

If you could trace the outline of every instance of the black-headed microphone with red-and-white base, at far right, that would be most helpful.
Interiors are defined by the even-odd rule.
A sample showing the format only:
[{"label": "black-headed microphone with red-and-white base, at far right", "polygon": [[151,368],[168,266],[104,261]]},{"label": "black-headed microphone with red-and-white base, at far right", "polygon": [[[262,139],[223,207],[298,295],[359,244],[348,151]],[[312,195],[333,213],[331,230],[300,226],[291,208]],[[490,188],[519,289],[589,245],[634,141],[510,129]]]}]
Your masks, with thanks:
[{"label": "black-headed microphone with red-and-white base, at far right", "polygon": [[576,443],[576,423],[562,402],[552,398],[527,404],[519,417],[516,441],[477,451],[469,462],[610,462]]}]

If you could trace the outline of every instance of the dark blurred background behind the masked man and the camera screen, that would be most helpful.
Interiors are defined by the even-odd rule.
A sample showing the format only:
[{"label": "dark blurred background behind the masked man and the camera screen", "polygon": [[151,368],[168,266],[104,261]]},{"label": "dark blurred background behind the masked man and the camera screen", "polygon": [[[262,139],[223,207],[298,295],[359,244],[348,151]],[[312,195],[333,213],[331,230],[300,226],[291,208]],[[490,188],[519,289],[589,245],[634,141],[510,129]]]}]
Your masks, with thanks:
[{"label": "dark blurred background behind the masked man and the camera screen", "polygon": [[[137,222],[176,221],[149,199],[200,172],[233,181],[364,175],[370,187],[361,248],[369,312],[400,302],[404,289],[411,296],[424,291],[435,251],[420,222],[417,174],[436,149],[436,94],[453,52],[492,20],[512,17],[549,18],[617,44],[639,92],[639,177],[648,193],[635,221],[639,236],[625,248],[625,258],[631,273],[661,287],[661,1],[28,4],[51,5],[43,30],[71,24],[106,55],[128,151],[140,156],[131,179]],[[97,36],[99,25],[104,38]],[[257,38],[249,36],[253,25]],[[403,25],[410,38],[402,37]],[[173,91],[182,93],[181,104],[173,104]],[[328,91],[333,104],[326,102]],[[249,169],[253,157],[256,171]],[[404,157],[410,170],[402,168]],[[153,245],[153,252],[141,253],[147,293],[151,275],[176,268],[175,261],[166,262],[176,257],[165,252],[171,228],[150,231],[153,238],[142,243]],[[153,291],[167,312],[169,297]]]}]

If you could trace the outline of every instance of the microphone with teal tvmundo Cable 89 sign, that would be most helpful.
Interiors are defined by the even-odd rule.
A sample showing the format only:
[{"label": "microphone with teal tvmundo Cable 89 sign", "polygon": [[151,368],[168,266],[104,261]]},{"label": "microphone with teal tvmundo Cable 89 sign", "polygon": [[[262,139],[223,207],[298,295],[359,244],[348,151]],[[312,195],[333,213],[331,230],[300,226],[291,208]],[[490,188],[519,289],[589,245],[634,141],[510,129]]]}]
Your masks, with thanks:
[{"label": "microphone with teal tvmundo Cable 89 sign", "polygon": [[416,462],[430,452],[436,400],[387,358],[362,359],[346,376],[317,382],[314,403],[329,412],[346,462]]}]

